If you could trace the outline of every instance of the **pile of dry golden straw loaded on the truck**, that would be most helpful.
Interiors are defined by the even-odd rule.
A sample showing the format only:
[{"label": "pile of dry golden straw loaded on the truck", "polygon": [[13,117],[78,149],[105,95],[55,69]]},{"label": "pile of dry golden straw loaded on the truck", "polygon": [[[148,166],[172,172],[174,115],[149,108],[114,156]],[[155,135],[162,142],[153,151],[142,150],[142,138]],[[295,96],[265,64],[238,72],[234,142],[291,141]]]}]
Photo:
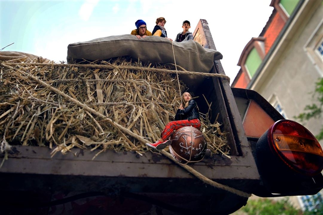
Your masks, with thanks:
[{"label": "pile of dry golden straw loaded on the truck", "polygon": [[[181,83],[179,90],[176,75],[151,72],[152,65],[141,65],[128,58],[110,59],[101,64],[115,68],[28,64],[10,68],[2,64],[1,150],[8,144],[49,146],[53,148],[53,156],[73,147],[100,149],[99,153],[107,149],[135,150],[139,154],[150,150],[120,128],[129,129],[147,142],[158,140],[161,130],[174,119],[179,92],[185,86]],[[138,70],[118,69],[119,65],[137,66]],[[204,117],[201,130],[208,148],[213,153],[228,154],[220,124],[211,124],[207,113]]]}]

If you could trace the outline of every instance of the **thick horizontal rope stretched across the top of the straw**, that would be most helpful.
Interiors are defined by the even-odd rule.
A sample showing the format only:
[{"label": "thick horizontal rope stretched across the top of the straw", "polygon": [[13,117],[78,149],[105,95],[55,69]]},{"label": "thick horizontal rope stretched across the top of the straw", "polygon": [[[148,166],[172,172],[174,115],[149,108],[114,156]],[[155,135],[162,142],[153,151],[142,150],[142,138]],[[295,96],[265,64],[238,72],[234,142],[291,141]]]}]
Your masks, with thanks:
[{"label": "thick horizontal rope stretched across the top of the straw", "polygon": [[[83,67],[83,68],[98,68],[98,69],[141,69],[142,71],[147,71],[147,69],[151,72],[164,72],[173,74],[176,73],[174,70],[170,69],[159,69],[159,68],[148,68],[148,67],[135,67],[135,66],[111,66],[111,65],[97,65],[97,64],[48,64],[48,63],[2,63],[2,65],[6,66],[43,66],[43,67]],[[195,76],[203,76],[203,77],[219,77],[226,79],[230,82],[230,78],[223,74],[217,73],[206,73],[206,72],[190,72],[190,71],[177,71],[178,74],[184,75],[195,75]]]}]

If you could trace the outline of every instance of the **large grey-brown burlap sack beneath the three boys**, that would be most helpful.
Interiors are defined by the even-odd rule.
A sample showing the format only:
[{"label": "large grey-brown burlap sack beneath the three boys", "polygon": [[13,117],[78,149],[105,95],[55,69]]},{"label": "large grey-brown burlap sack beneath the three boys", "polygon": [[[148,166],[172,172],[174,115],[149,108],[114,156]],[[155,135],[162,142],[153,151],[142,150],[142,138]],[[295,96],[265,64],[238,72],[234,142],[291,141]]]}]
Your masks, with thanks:
[{"label": "large grey-brown burlap sack beneath the three boys", "polygon": [[135,60],[139,58],[142,62],[174,64],[172,43],[176,64],[187,71],[209,72],[213,67],[213,61],[222,59],[220,52],[204,48],[193,40],[179,43],[159,36],[138,39],[134,35],[125,34],[69,44],[67,61],[73,63],[79,59],[94,61],[131,56]]}]

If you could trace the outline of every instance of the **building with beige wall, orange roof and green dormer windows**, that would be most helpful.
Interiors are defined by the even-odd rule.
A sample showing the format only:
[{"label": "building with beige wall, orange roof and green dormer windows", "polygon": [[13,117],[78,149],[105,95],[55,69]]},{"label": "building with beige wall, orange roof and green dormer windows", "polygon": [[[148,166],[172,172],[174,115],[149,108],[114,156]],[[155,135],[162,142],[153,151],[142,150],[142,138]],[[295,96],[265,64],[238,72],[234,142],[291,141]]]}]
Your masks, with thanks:
[{"label": "building with beige wall, orange roof and green dormer windows", "polygon": [[[297,121],[306,105],[317,103],[315,83],[323,77],[323,1],[272,0],[270,6],[273,13],[245,46],[231,87],[257,91],[285,118]],[[323,117],[304,125],[318,135]],[[311,208],[311,198],[298,197],[299,206]]]}]

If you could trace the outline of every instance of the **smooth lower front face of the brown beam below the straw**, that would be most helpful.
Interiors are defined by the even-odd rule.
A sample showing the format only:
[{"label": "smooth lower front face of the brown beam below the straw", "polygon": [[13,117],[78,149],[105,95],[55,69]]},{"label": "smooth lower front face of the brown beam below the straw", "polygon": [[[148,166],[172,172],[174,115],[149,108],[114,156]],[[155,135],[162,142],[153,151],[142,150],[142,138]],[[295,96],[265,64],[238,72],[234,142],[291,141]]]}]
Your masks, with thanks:
[{"label": "smooth lower front face of the brown beam below the straw", "polygon": [[[37,167],[37,168],[35,168]],[[215,166],[213,169],[205,166],[195,166],[194,169],[211,179],[258,179],[250,176],[250,167]],[[23,173],[65,176],[104,176],[104,177],[141,177],[150,178],[194,178],[178,165],[170,164],[140,164],[116,163],[102,161],[72,161],[48,159],[9,159],[0,169],[2,173]],[[121,180],[121,179],[120,179]]]}]

